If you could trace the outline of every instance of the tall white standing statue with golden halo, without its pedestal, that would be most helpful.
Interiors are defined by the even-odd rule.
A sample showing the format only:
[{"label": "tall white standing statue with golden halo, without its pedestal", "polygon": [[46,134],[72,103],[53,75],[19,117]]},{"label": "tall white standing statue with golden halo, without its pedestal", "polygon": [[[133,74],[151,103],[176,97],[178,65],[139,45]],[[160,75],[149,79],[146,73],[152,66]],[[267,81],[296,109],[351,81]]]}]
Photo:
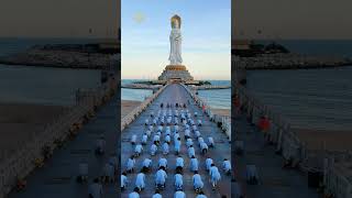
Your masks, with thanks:
[{"label": "tall white standing statue with golden halo, without its pedestal", "polygon": [[172,18],[172,32],[169,35],[170,51],[168,61],[170,65],[182,65],[182,35],[180,35],[180,18],[178,15],[174,15]]}]

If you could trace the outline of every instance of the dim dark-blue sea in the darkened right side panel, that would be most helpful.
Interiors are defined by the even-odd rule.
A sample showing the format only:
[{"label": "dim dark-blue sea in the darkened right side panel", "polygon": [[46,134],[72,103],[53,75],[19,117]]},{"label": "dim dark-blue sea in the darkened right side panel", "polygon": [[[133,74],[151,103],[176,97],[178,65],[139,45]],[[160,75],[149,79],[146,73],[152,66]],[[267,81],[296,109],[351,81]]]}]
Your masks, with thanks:
[{"label": "dim dark-blue sea in the darkened right side panel", "polygon": [[[290,51],[352,57],[352,41],[284,41]],[[352,66],[307,70],[251,70],[248,88],[294,127],[352,129]]]}]

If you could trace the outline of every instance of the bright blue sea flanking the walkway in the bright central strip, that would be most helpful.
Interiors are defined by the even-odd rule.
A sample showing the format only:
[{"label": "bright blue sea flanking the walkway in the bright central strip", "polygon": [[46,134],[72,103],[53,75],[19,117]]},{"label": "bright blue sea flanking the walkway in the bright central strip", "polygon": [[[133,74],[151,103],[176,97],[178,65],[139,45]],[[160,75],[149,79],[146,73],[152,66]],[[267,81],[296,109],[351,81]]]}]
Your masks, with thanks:
[{"label": "bright blue sea flanking the walkway in the bright central strip", "polygon": [[[136,79],[123,79],[123,84],[141,81]],[[230,80],[209,80],[212,85],[230,85]],[[122,100],[143,101],[145,97],[152,95],[152,90],[145,89],[121,89]],[[231,109],[231,89],[199,90],[198,96],[205,99],[209,106],[217,109]]]}]

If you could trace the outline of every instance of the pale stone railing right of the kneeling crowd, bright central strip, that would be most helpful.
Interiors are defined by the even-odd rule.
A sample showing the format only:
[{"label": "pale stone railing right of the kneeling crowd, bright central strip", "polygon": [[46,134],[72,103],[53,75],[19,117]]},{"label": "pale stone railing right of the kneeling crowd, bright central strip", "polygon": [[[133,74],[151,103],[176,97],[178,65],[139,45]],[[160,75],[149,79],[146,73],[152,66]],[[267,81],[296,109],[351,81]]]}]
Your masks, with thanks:
[{"label": "pale stone railing right of the kneeling crowd, bright central strip", "polygon": [[220,116],[212,113],[210,107],[201,98],[199,98],[195,91],[193,91],[187,86],[183,85],[183,87],[187,90],[190,97],[195,100],[199,108],[202,108],[205,113],[209,116],[210,120],[218,123],[221,130],[227,134],[229,140],[231,141],[231,117]]}]

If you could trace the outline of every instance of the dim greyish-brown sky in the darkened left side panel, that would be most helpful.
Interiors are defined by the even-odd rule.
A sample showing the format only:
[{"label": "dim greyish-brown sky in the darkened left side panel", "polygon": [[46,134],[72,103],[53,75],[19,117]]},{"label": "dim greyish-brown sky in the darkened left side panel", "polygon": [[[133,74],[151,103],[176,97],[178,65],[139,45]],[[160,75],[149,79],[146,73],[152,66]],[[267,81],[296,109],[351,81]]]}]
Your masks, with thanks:
[{"label": "dim greyish-brown sky in the darkened left side panel", "polygon": [[116,37],[118,4],[118,0],[0,0],[0,36]]}]

